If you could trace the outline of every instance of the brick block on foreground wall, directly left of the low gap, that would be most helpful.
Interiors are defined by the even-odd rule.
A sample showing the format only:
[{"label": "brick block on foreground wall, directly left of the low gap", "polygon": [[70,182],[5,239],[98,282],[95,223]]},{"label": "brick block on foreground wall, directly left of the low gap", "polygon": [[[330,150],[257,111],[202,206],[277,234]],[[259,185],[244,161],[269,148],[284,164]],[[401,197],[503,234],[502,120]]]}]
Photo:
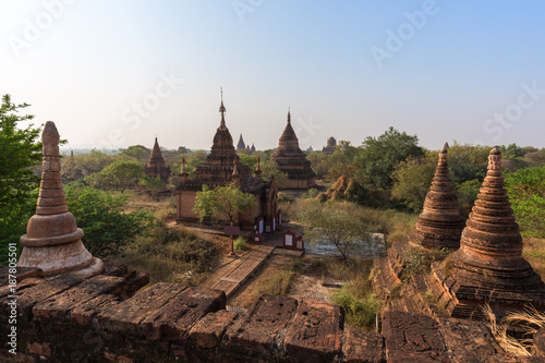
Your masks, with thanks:
[{"label": "brick block on foreground wall, directly left of the low gap", "polygon": [[286,335],[286,351],[301,362],[330,362],[341,351],[344,312],[322,301],[303,300]]}]

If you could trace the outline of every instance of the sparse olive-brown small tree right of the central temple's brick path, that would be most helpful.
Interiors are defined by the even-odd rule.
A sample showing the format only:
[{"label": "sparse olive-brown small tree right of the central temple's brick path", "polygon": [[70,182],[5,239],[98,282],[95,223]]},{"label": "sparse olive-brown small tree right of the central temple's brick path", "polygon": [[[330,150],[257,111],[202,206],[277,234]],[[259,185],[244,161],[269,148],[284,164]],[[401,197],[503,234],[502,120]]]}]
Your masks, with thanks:
[{"label": "sparse olive-brown small tree right of the central temple's brick path", "polygon": [[295,219],[304,225],[304,239],[310,244],[335,246],[347,261],[354,251],[370,243],[370,225],[358,217],[354,205],[317,199],[301,203]]}]

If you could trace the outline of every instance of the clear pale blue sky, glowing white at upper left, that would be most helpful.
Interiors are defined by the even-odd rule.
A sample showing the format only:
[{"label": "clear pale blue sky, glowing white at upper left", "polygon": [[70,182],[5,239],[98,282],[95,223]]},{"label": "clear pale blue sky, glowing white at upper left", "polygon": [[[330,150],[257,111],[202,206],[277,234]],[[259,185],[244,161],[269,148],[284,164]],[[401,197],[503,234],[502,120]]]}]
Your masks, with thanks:
[{"label": "clear pale blue sky, glowing white at upper left", "polygon": [[545,147],[545,2],[0,0],[0,93],[68,148]]}]

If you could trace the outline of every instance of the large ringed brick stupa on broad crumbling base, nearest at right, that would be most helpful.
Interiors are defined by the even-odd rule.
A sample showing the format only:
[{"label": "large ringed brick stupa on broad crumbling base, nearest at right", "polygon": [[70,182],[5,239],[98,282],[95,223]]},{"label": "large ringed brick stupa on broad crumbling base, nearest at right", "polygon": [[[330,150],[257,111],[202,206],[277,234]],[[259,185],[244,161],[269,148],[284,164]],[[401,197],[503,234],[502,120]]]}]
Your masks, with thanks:
[{"label": "large ringed brick stupa on broad crumbling base, nearest at right", "polygon": [[504,189],[500,160],[500,152],[493,148],[460,249],[432,268],[436,298],[456,317],[479,317],[484,303],[498,316],[526,304],[545,310],[545,285],[522,257],[522,238]]}]

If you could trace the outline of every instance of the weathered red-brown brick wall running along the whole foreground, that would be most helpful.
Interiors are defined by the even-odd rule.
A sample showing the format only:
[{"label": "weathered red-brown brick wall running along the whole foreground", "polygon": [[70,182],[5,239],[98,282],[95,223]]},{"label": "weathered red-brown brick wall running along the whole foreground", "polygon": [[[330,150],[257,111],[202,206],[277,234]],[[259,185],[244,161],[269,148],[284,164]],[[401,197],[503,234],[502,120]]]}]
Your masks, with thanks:
[{"label": "weathered red-brown brick wall running along the whole foreground", "polygon": [[[123,266],[86,280],[20,271],[17,354],[3,346],[0,361],[516,362],[481,323],[387,312],[378,334],[349,328],[341,307],[320,301],[262,295],[239,315],[226,311],[219,290],[156,283],[134,294],[147,282]],[[10,329],[7,283],[2,337]]]}]

